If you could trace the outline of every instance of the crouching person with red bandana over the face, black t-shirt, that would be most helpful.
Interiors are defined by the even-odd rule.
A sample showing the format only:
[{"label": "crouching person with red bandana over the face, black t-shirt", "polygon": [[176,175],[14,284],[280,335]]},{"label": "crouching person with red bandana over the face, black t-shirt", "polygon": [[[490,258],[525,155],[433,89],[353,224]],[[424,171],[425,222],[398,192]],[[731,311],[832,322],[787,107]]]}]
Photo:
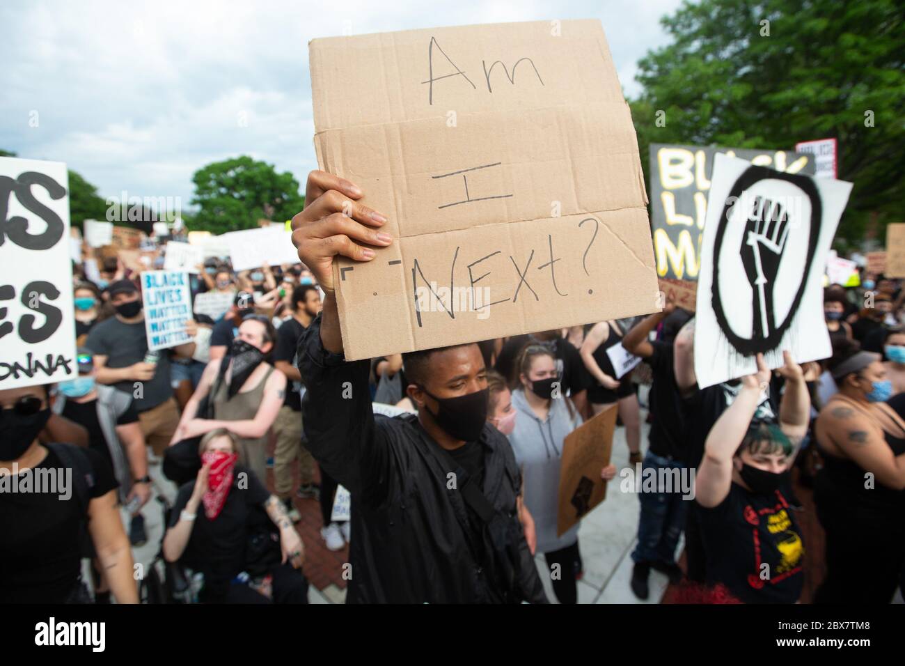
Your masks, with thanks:
[{"label": "crouching person with red bandana over the face, black t-shirt", "polygon": [[[205,603],[307,603],[299,533],[282,502],[244,466],[235,435],[211,430],[199,453],[202,468],[179,488],[164,536],[167,562],[204,574]],[[270,522],[279,528],[279,546]]]}]

